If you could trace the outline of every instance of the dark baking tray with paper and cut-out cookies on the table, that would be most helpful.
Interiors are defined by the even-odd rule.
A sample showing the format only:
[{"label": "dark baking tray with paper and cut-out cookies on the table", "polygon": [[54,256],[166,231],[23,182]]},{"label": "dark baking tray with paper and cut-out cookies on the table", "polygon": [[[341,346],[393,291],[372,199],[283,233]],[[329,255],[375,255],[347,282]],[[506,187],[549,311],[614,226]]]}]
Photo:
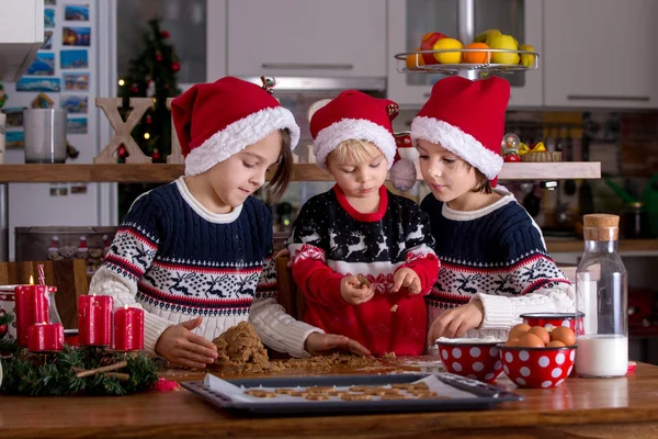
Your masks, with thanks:
[{"label": "dark baking tray with paper and cut-out cookies on the table", "polygon": [[[387,386],[392,384],[410,384],[423,380],[432,380],[432,383],[439,383],[439,386],[441,386],[439,397],[410,399],[373,397],[370,401],[343,401],[340,397],[331,397],[326,401],[307,401],[305,398],[282,397],[282,395],[272,398],[256,398],[242,393],[246,390],[275,390],[277,387]],[[503,389],[452,373],[286,376],[226,381],[207,374],[204,381],[186,381],[182,382],[181,385],[218,407],[265,416],[477,410],[492,408],[495,405],[504,402],[523,399],[522,396]]]}]

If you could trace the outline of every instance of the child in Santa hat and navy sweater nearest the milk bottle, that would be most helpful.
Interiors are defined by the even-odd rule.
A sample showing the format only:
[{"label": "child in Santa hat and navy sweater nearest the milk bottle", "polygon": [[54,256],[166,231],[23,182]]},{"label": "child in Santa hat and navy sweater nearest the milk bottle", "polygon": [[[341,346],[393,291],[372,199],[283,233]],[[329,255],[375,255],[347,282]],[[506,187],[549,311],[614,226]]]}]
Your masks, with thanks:
[{"label": "child in Santa hat and navy sweater nearest the milk bottle", "polygon": [[450,77],[434,85],[411,124],[432,191],[421,209],[442,264],[428,296],[430,344],[504,338],[520,314],[575,312],[574,289],[540,228],[512,194],[496,189],[509,97],[504,79]]}]

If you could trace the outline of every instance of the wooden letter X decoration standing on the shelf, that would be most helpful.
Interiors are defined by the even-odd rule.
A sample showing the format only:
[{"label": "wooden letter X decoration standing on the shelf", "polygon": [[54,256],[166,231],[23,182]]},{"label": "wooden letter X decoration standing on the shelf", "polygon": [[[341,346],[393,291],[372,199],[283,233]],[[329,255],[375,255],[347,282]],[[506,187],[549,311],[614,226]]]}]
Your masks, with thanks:
[{"label": "wooden letter X decoration standing on the shelf", "polygon": [[116,157],[114,154],[116,149],[123,145],[128,151],[126,162],[128,164],[150,164],[151,158],[145,156],[139,145],[135,143],[131,132],[139,123],[144,113],[154,106],[152,98],[131,98],[131,114],[124,122],[118,114],[118,109],[123,105],[122,98],[97,98],[95,105],[103,109],[105,116],[110,121],[110,125],[114,128],[114,136],[110,139],[110,143],[94,159],[94,164],[116,164]]}]

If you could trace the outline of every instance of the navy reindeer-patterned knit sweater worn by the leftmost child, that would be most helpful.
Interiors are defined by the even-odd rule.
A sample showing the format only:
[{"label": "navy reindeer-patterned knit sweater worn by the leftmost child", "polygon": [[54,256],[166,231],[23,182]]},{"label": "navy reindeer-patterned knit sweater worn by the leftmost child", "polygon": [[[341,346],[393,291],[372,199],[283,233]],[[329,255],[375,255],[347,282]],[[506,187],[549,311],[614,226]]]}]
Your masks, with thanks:
[{"label": "navy reindeer-patterned knit sweater worn by the leftmost child", "polygon": [[203,316],[196,333],[208,339],[249,318],[265,344],[304,356],[317,329],[287,316],[276,291],[269,209],[249,196],[228,214],[212,213],[183,178],[135,201],[91,285],[115,306],[147,311],[151,351],[167,327]]}]

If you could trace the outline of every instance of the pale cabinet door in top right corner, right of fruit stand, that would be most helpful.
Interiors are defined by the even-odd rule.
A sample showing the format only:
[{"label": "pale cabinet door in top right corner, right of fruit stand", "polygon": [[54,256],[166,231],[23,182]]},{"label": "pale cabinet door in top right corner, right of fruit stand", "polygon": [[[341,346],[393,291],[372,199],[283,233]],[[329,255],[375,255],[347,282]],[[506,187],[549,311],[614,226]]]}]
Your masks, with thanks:
[{"label": "pale cabinet door in top right corner, right of fruit stand", "polygon": [[544,2],[545,102],[656,108],[655,0]]}]

